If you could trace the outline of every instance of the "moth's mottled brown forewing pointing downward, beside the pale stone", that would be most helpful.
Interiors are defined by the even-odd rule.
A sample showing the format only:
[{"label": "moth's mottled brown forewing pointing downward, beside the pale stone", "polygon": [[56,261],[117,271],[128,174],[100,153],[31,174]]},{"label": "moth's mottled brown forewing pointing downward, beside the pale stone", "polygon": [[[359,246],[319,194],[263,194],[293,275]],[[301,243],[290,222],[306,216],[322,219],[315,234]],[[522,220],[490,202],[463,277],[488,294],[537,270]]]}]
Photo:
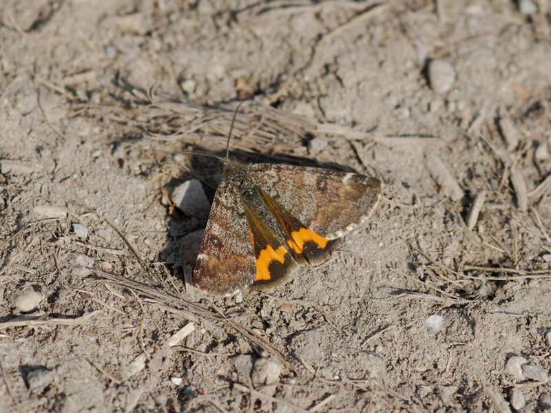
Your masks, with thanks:
[{"label": "moth's mottled brown forewing pointing downward, beside the pale stone", "polygon": [[194,284],[209,293],[231,295],[256,277],[256,260],[245,209],[236,188],[222,181],[214,195],[202,239]]}]

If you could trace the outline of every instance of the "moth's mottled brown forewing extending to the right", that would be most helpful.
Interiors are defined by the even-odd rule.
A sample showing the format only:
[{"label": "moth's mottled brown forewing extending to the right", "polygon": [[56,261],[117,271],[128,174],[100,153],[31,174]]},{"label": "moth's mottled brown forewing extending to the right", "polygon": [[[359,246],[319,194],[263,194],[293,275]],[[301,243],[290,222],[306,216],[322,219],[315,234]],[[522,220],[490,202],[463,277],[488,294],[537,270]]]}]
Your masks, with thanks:
[{"label": "moth's mottled brown forewing extending to the right", "polygon": [[288,213],[328,240],[366,220],[381,195],[380,180],[357,173],[273,164],[253,164],[248,170]]}]

